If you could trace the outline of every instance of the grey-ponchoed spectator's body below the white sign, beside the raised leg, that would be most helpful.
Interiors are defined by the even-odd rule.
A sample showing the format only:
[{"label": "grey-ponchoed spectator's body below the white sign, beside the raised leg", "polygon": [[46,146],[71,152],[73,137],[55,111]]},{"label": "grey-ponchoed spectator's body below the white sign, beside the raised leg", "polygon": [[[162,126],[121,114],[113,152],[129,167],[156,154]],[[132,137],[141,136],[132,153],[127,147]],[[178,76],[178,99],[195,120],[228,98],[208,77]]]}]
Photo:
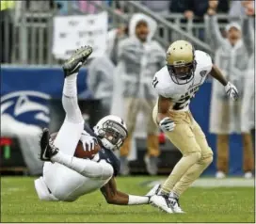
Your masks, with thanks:
[{"label": "grey-ponchoed spectator's body below the white sign, beside the raised leg", "polygon": [[101,100],[101,117],[110,114],[115,66],[108,56],[92,58],[88,64],[88,89],[92,97]]}]

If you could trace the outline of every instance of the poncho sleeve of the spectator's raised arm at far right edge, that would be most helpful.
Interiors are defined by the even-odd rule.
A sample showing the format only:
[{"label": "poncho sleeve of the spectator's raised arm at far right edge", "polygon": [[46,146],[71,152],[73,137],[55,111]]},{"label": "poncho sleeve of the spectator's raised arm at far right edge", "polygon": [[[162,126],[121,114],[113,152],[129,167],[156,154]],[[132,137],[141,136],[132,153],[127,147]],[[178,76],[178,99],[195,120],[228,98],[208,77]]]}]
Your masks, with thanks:
[{"label": "poncho sleeve of the spectator's raised arm at far right edge", "polygon": [[248,51],[248,56],[251,56],[254,52],[254,30],[253,30],[253,18],[246,18],[243,20],[243,39]]}]

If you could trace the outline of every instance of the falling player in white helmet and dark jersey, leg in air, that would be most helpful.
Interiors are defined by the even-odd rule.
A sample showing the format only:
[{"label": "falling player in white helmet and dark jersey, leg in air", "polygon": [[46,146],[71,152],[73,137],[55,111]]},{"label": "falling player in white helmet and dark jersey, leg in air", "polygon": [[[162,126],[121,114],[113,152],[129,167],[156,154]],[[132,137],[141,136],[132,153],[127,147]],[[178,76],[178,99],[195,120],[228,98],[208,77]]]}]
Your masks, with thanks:
[{"label": "falling player in white helmet and dark jersey, leg in air", "polygon": [[[55,140],[47,129],[43,130],[40,138],[40,159],[51,162],[44,163],[43,175],[35,181],[38,196],[40,200],[73,201],[101,189],[108,203],[147,204],[150,197],[128,195],[117,190],[115,176],[119,172],[120,161],[113,151],[119,150],[127,137],[123,120],[109,115],[99,120],[94,131],[84,127],[77,104],[76,77],[91,53],[91,47],[82,47],[63,66],[62,104],[66,118]],[[102,149],[92,160],[74,157],[79,140],[91,148],[98,141]]]}]

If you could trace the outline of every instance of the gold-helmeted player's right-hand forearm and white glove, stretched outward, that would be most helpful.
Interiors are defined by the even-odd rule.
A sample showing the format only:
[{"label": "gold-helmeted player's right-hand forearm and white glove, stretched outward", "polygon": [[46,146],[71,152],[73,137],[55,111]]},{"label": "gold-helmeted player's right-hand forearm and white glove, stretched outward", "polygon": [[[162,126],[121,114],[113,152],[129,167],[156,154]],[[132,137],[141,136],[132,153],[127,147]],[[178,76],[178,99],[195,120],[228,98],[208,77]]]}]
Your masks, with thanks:
[{"label": "gold-helmeted player's right-hand forearm and white glove, stretched outward", "polygon": [[220,82],[224,87],[227,95],[234,101],[236,101],[239,97],[238,90],[235,88],[234,85],[232,85],[231,82],[228,82],[227,79],[224,77],[222,72],[216,67],[216,65],[213,65],[212,71],[210,74],[218,81]]}]

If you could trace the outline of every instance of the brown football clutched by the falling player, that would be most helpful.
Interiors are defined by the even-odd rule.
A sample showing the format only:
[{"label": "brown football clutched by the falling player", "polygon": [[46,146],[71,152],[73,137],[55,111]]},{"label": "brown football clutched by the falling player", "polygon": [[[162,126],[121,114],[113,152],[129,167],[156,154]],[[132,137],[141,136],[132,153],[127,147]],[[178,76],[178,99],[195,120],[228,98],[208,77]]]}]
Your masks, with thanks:
[{"label": "brown football clutched by the falling player", "polygon": [[[51,137],[53,139],[55,139],[56,135],[57,135],[57,132],[56,133],[52,133]],[[89,158],[89,159],[92,159],[93,156],[97,152],[99,152],[100,150],[101,150],[101,146],[99,144],[96,144],[92,151],[90,151],[90,152],[85,151],[82,142],[79,141],[77,146],[76,146],[76,149],[75,149],[75,152],[74,152],[74,156],[77,157],[77,158]]]}]

